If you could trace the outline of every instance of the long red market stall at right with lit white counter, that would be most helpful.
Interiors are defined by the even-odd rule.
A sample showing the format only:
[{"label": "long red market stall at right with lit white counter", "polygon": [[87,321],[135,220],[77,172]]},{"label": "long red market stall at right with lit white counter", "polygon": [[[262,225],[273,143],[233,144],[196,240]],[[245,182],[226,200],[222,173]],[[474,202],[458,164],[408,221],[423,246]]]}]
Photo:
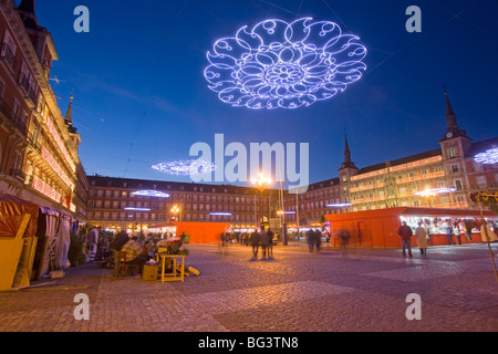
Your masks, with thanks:
[{"label": "long red market stall at right with lit white counter", "polygon": [[[491,221],[498,220],[492,211],[485,210],[483,215]],[[325,218],[331,221],[332,236],[347,230],[351,237],[349,246],[352,247],[400,248],[397,229],[402,221],[406,221],[414,231],[418,222],[422,222],[429,233],[429,246],[447,244],[448,227],[460,230],[461,243],[483,242],[479,210],[401,207],[326,215]],[[470,240],[466,236],[467,227],[471,229]],[[455,236],[453,238],[455,240]],[[340,246],[338,237],[332,238],[332,244]],[[416,246],[415,237],[412,244]]]}]

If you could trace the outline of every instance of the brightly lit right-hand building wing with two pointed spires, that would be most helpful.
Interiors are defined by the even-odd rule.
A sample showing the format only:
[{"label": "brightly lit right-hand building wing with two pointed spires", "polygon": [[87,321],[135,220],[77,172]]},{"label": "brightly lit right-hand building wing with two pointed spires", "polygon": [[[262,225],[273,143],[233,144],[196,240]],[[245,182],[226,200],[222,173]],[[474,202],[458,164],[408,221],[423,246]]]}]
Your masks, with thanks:
[{"label": "brightly lit right-hand building wing with two pointed spires", "polygon": [[[498,137],[474,143],[457,124],[446,95],[447,131],[439,148],[384,164],[356,168],[347,148],[340,169],[341,196],[351,211],[391,207],[477,208],[476,190],[498,190],[498,164],[476,163],[474,157],[498,146]],[[450,192],[422,194],[453,189]]]}]

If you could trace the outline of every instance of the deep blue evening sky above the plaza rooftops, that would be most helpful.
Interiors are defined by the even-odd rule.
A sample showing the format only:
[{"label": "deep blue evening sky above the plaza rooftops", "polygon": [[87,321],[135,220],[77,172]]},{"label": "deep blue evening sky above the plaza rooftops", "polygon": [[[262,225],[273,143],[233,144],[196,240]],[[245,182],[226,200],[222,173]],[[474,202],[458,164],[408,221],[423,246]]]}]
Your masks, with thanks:
[{"label": "deep blue evening sky above the plaza rooftops", "polygon": [[[422,33],[405,30],[412,4],[422,9]],[[76,6],[90,9],[90,33],[73,30]],[[204,77],[214,42],[298,14],[359,35],[369,50],[364,77],[299,110],[220,102]],[[338,177],[344,131],[360,168],[437,148],[445,84],[460,128],[476,142],[497,136],[496,0],[40,0],[37,15],[59,53],[51,76],[61,82],[51,84],[63,114],[74,90],[89,175],[190,181],[151,165],[188,158],[193,144],[214,145],[219,133],[248,148],[309,143],[310,183]]]}]

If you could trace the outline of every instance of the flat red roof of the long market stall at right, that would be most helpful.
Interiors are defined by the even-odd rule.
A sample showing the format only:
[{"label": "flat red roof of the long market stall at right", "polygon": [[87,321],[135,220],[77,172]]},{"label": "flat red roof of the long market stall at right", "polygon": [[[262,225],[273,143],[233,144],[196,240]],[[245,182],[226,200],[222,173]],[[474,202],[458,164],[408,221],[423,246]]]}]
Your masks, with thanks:
[{"label": "flat red roof of the long market stall at right", "polygon": [[[418,216],[418,217],[476,217],[480,218],[479,210],[470,209],[437,209],[437,208],[388,208],[377,210],[363,210],[344,214],[325,215],[325,218],[330,221],[362,219],[362,218],[382,218],[388,216]],[[486,218],[498,218],[498,215],[490,210],[483,210],[483,215]]]}]

